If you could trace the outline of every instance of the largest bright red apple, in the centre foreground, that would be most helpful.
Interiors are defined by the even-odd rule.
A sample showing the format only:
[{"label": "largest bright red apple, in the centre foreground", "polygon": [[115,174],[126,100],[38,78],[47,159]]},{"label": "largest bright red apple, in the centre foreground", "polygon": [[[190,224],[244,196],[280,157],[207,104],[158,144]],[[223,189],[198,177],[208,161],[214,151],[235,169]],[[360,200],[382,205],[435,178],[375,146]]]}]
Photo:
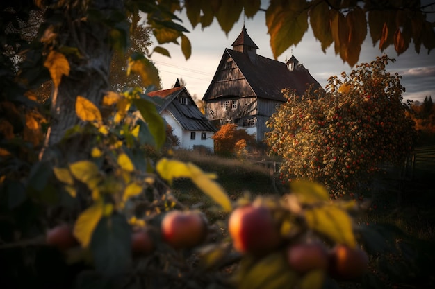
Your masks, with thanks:
[{"label": "largest bright red apple, in the centre foreground", "polygon": [[233,247],[242,253],[265,255],[281,243],[279,229],[266,207],[238,207],[229,217],[228,229]]}]

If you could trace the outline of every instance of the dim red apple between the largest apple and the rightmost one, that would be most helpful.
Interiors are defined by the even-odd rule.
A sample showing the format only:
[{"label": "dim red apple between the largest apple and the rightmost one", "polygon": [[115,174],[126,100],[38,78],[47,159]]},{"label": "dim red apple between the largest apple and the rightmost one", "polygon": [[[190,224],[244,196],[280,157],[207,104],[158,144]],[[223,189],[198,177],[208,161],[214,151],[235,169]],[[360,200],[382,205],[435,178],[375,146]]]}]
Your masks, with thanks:
[{"label": "dim red apple between the largest apple and the rightmost one", "polygon": [[288,247],[287,261],[293,270],[302,274],[311,270],[326,270],[329,263],[327,249],[320,243]]}]

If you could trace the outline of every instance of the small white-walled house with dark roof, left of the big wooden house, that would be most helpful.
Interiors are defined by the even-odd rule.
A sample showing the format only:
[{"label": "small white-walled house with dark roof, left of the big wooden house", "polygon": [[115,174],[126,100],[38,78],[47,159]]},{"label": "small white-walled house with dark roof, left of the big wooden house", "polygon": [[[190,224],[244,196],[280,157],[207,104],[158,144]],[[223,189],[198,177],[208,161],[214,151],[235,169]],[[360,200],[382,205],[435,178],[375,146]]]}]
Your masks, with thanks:
[{"label": "small white-walled house with dark roof, left of the big wooden house", "polygon": [[152,91],[148,95],[163,99],[163,103],[158,106],[158,112],[178,137],[179,148],[192,150],[198,146],[214,151],[211,137],[217,129],[199,111],[186,87],[179,86],[178,80],[174,88]]}]

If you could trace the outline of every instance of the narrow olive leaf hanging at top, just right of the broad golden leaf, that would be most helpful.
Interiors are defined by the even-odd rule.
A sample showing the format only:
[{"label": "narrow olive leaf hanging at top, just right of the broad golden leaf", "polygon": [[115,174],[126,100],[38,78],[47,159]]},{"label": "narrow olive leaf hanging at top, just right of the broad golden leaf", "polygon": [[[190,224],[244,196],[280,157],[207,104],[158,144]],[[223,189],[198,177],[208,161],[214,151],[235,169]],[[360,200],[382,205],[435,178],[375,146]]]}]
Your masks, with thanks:
[{"label": "narrow olive leaf hanging at top, just right of the broad golden leaf", "polygon": [[321,1],[310,10],[310,24],[313,35],[322,44],[322,51],[331,45],[333,39],[331,34],[331,24],[329,24],[329,6],[325,1]]}]

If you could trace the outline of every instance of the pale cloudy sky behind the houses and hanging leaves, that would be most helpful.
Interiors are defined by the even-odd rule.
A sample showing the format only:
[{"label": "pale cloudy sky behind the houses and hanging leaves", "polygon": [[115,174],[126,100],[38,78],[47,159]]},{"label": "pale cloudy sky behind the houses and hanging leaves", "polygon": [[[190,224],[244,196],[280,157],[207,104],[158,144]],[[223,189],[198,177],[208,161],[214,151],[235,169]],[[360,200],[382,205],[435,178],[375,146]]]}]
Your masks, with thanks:
[{"label": "pale cloudy sky behind the houses and hanging leaves", "polygon": [[[266,8],[265,4],[262,5],[262,8]],[[238,22],[234,24],[228,35],[225,35],[221,30],[216,19],[211,26],[204,28],[204,30],[201,29],[200,24],[193,29],[185,14],[185,10],[183,10],[179,17],[183,19],[182,25],[190,31],[190,33],[186,33],[192,44],[190,58],[186,60],[181,53],[181,47],[175,44],[163,45],[170,51],[171,58],[158,53],[154,53],[151,57],[161,73],[163,89],[171,88],[177,78],[183,78],[190,95],[201,99],[213,78],[224,49],[232,48],[231,44],[240,34],[244,20],[248,35],[259,48],[257,54],[273,59],[272,49],[270,49],[270,35],[268,35],[268,28],[265,25],[265,12],[258,11],[254,18],[245,17],[243,19],[243,15],[240,15]],[[157,42],[154,40],[154,46],[156,45]],[[361,48],[358,63],[370,63],[377,56],[386,53],[390,58],[396,59],[393,64],[388,64],[387,70],[403,76],[402,85],[406,88],[406,92],[403,94],[404,100],[421,102],[425,96],[435,98],[435,51],[431,51],[428,55],[427,49],[422,46],[420,54],[417,54],[411,43],[405,53],[397,55],[393,46],[384,52],[379,51],[378,47],[379,42],[373,46],[368,33]],[[288,49],[277,60],[286,62],[286,59],[291,57],[292,51],[295,58],[304,64],[306,69],[309,69],[311,75],[320,82],[322,87],[325,87],[330,76],[339,76],[343,71],[350,73],[352,70],[349,64],[343,63],[340,55],[335,55],[334,44],[329,46],[327,53],[323,53],[320,42],[315,40],[313,36],[311,27],[297,46]]]}]

